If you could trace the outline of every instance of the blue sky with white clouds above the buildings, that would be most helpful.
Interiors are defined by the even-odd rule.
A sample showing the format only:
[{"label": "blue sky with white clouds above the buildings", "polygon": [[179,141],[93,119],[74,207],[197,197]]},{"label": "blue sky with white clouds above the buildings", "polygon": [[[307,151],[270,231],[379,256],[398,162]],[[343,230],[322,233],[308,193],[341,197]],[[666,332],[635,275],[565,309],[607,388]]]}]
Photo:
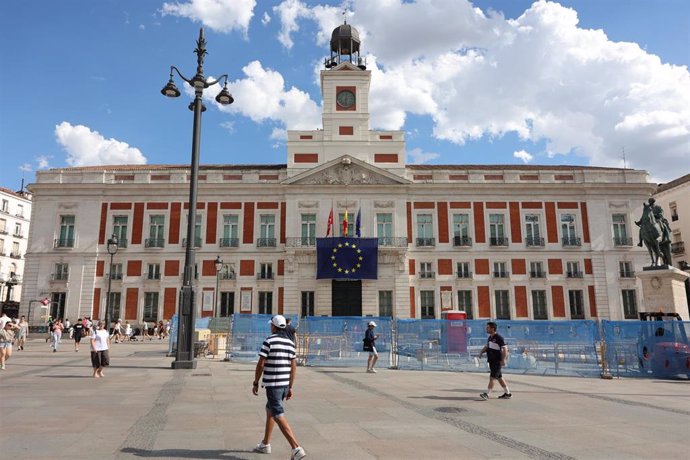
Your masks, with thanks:
[{"label": "blue sky with white clouds above the buildings", "polygon": [[343,10],[372,70],[372,128],[405,130],[410,163],[623,166],[625,152],[654,181],[690,172],[686,0],[6,0],[0,186],[188,164],[189,96],[159,91],[170,65],[194,74],[201,26],[206,75],[227,73],[235,97],[207,102],[201,162],[285,163],[285,130],[320,127]]}]

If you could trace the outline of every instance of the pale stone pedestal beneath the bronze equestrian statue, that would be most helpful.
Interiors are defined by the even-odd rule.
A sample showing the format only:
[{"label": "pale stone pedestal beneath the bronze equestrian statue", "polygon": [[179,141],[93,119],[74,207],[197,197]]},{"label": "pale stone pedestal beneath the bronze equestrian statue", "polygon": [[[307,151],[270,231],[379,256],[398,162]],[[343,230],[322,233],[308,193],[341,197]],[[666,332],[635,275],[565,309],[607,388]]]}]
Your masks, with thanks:
[{"label": "pale stone pedestal beneath the bronze equestrian statue", "polygon": [[637,277],[642,281],[640,311],[678,313],[683,321],[690,321],[688,298],[685,294],[686,272],[675,267],[644,267]]}]

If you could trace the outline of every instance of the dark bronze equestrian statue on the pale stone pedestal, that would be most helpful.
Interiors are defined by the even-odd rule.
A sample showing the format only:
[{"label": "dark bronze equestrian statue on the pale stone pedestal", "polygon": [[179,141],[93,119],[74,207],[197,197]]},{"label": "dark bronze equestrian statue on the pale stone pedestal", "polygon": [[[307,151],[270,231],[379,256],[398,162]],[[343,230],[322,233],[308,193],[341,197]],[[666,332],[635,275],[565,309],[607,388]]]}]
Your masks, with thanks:
[{"label": "dark bronze equestrian statue on the pale stone pedestal", "polygon": [[664,218],[664,210],[655,202],[654,198],[650,198],[642,205],[642,217],[635,222],[640,227],[640,242],[637,245],[641,247],[644,243],[647,246],[652,259],[651,266],[672,265],[671,227]]}]

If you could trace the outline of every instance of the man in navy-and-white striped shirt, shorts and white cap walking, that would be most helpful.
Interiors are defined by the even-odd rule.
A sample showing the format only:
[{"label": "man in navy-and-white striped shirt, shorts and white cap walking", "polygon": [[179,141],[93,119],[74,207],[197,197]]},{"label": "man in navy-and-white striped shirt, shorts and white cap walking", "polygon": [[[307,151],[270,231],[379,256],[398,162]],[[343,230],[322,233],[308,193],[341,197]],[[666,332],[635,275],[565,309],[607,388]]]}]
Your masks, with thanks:
[{"label": "man in navy-and-white striped shirt, shorts and white cap walking", "polygon": [[259,362],[256,363],[252,393],[259,394],[259,379],[263,374],[262,386],[266,388],[266,427],[264,439],[257,444],[255,452],[271,453],[271,433],[273,427],[278,428],[290,443],[292,448],[291,460],[299,460],[307,456],[300,447],[292,428],[285,418],[283,400],[292,398],[292,384],[295,381],[297,362],[295,361],[295,344],[285,334],[287,322],[283,315],[276,315],[269,321],[271,335],[264,340],[259,351]]}]

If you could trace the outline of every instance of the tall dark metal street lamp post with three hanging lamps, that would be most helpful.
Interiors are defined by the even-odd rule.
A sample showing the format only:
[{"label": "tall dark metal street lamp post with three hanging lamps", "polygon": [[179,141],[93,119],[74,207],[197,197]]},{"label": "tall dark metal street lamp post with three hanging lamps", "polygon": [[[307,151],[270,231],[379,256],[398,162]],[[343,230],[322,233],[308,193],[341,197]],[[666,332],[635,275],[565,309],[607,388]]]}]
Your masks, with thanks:
[{"label": "tall dark metal street lamp post with three hanging lamps", "polygon": [[228,91],[228,76],[221,75],[214,81],[206,80],[204,77],[204,57],[206,51],[206,39],[204,29],[199,31],[199,39],[194,50],[197,56],[196,75],[191,79],[186,78],[175,66],[170,66],[170,80],[163,87],[161,94],[166,97],[179,97],[180,90],[173,81],[173,71],[187,84],[194,88],[194,102],[189,105],[189,109],[194,112],[194,124],[192,130],[192,164],[191,180],[189,181],[189,218],[187,219],[187,241],[185,247],[184,273],[182,278],[182,289],[180,291],[180,302],[177,313],[177,351],[175,361],[172,362],[173,369],[195,369],[196,360],[194,359],[194,316],[195,316],[195,293],[192,286],[194,276],[194,229],[196,227],[196,198],[197,180],[199,177],[199,146],[201,143],[201,113],[206,110],[201,99],[204,90],[220,81],[224,81],[223,89],[216,96],[216,102],[221,105],[230,105],[234,99]]}]

